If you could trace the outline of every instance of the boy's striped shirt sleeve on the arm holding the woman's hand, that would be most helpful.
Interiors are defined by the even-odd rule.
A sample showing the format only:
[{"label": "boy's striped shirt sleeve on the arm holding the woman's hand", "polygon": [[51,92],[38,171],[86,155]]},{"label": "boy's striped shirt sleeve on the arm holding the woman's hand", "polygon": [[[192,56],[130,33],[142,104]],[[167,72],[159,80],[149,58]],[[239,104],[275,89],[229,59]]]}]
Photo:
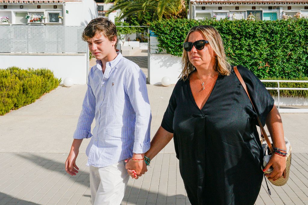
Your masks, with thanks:
[{"label": "boy's striped shirt sleeve on the arm holding the woman's hand", "polygon": [[137,66],[126,73],[126,92],[136,112],[135,140],[133,152],[143,154],[150,149],[151,108],[148,99],[146,77]]}]

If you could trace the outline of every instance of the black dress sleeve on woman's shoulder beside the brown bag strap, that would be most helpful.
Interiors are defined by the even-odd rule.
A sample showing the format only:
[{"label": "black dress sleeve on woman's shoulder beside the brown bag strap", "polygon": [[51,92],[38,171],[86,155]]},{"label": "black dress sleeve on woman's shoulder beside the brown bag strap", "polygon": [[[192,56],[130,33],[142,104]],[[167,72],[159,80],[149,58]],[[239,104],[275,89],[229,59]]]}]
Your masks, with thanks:
[{"label": "black dress sleeve on woman's shoulder beside the brown bag strap", "polygon": [[[274,99],[253,72],[241,65],[238,65],[237,69],[245,81],[254,108],[264,126],[267,115],[274,107]],[[256,124],[259,125],[257,121]]]}]

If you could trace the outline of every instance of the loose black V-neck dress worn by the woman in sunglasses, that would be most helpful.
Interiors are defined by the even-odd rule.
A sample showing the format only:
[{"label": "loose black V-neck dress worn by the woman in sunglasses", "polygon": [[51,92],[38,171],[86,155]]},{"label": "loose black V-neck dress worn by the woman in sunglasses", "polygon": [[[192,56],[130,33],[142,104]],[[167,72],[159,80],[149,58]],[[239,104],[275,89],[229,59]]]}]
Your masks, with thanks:
[{"label": "loose black V-neck dress worn by the woman in sunglasses", "polygon": [[[248,69],[237,66],[263,125],[274,100]],[[190,202],[253,204],[261,188],[261,143],[256,113],[232,69],[218,76],[200,110],[189,79],[179,80],[161,126],[174,133],[176,157]]]}]

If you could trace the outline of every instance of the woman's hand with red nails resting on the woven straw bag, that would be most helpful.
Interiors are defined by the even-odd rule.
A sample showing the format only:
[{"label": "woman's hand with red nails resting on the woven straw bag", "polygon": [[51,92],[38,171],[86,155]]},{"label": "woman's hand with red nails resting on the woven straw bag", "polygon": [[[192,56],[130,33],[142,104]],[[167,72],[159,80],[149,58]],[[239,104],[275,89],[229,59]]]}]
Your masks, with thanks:
[{"label": "woman's hand with red nails resting on the woven straw bag", "polygon": [[270,161],[266,164],[263,171],[267,171],[271,166],[273,167],[273,171],[270,174],[265,174],[268,179],[273,179],[273,181],[275,181],[282,175],[286,178],[286,157],[272,154]]}]

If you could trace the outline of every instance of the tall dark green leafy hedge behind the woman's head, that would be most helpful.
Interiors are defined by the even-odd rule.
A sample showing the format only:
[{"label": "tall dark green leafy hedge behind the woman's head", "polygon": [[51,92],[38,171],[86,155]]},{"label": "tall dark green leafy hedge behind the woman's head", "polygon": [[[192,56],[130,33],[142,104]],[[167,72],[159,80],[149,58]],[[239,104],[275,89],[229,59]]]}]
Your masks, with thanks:
[{"label": "tall dark green leafy hedge behind the woman's head", "polygon": [[246,21],[172,19],[151,23],[160,51],[182,55],[188,30],[214,26],[233,65],[243,65],[259,78],[308,77],[308,20]]}]

